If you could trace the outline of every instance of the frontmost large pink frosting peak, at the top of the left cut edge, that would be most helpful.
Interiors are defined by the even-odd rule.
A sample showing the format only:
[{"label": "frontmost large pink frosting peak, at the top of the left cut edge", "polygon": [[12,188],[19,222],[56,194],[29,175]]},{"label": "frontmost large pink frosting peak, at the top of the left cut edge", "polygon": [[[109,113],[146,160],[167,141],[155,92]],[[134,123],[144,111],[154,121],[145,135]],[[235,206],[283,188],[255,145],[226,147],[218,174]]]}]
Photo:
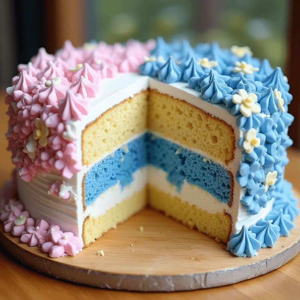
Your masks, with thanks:
[{"label": "frontmost large pink frosting peak, at the top of the left cut edge", "polygon": [[88,100],[68,90],[66,97],[58,100],[58,114],[64,121],[81,120],[88,114]]}]

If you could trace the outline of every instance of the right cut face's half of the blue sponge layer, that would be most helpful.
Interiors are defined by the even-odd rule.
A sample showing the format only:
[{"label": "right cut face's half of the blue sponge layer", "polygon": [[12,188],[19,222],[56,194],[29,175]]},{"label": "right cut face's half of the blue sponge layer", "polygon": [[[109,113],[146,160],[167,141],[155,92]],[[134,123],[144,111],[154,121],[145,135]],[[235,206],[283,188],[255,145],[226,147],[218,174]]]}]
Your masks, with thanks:
[{"label": "right cut face's half of the blue sponge layer", "polygon": [[219,164],[161,137],[146,134],[148,164],[168,173],[167,180],[180,192],[184,179],[211,193],[220,202],[230,201],[231,176]]}]

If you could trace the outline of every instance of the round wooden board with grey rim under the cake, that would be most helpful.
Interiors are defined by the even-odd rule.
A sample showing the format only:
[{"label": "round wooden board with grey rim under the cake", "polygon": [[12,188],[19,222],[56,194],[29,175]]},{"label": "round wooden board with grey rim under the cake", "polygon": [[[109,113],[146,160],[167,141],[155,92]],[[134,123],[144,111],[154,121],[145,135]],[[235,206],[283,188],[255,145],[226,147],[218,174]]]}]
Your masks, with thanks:
[{"label": "round wooden board with grey rim under the cake", "polygon": [[[228,285],[277,269],[300,250],[300,216],[288,237],[280,237],[274,247],[260,249],[252,258],[236,257],[224,244],[149,208],[74,257],[52,259],[39,247],[29,247],[0,228],[3,247],[37,271],[74,283],[132,291]],[[98,256],[98,250],[104,256]]]}]

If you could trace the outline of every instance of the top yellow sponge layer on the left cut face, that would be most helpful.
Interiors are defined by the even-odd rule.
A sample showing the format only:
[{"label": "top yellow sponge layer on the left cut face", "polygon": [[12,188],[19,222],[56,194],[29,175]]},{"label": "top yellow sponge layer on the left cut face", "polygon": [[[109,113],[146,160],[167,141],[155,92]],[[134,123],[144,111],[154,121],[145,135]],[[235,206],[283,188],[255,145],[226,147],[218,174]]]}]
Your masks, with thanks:
[{"label": "top yellow sponge layer on the left cut face", "polygon": [[147,124],[148,91],[115,105],[82,131],[82,164],[99,161],[107,152],[142,133]]}]

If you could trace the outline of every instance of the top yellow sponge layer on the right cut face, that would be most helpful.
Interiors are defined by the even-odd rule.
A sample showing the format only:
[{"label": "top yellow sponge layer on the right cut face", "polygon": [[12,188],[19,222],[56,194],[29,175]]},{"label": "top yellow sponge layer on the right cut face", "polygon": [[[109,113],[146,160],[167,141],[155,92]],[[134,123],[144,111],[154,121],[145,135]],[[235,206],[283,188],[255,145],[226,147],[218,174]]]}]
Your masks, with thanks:
[{"label": "top yellow sponge layer on the right cut face", "polygon": [[225,164],[233,159],[232,127],[186,101],[150,90],[148,124],[150,130]]}]

